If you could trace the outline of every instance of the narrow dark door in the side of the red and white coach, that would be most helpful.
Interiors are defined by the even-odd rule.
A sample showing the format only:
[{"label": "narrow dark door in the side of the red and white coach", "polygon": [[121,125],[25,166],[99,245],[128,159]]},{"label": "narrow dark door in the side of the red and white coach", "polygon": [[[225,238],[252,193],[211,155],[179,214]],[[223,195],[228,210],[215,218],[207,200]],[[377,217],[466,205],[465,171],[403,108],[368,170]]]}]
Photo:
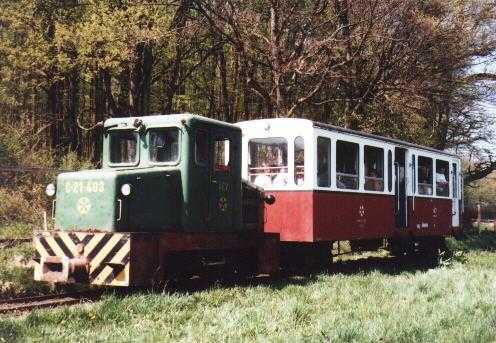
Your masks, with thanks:
[{"label": "narrow dark door in the side of the red and white coach", "polygon": [[406,228],[407,221],[407,195],[406,195],[406,149],[396,148],[394,151],[394,169],[396,176],[395,216],[396,227]]}]

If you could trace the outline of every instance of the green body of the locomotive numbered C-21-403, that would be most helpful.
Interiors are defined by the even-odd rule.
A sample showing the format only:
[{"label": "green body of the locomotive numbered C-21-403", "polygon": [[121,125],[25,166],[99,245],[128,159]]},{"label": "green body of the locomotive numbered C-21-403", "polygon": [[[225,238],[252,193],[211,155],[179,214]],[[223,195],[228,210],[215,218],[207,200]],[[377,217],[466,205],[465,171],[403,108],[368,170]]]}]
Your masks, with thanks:
[{"label": "green body of the locomotive numbered C-21-403", "polygon": [[[139,131],[138,161],[112,165],[109,161],[109,132]],[[154,164],[148,153],[148,130],[179,129],[179,161]],[[237,231],[242,230],[241,131],[238,127],[191,114],[113,118],[105,123],[102,169],[64,173],[57,180],[56,227],[62,230],[119,232]],[[198,130],[208,133],[209,161],[195,161]],[[213,142],[230,140],[229,172],[215,171]],[[80,193],[66,192],[67,183],[83,184]],[[131,195],[121,194],[123,184]],[[85,188],[88,184],[89,188]],[[102,189],[98,188],[102,186]],[[80,187],[80,186],[75,186]],[[91,187],[95,187],[95,191]],[[79,189],[78,189],[79,190]],[[87,200],[82,200],[86,198]],[[222,199],[221,199],[222,198]],[[85,204],[90,203],[90,209]],[[222,205],[222,206],[221,206]],[[81,213],[81,208],[83,208]]]}]

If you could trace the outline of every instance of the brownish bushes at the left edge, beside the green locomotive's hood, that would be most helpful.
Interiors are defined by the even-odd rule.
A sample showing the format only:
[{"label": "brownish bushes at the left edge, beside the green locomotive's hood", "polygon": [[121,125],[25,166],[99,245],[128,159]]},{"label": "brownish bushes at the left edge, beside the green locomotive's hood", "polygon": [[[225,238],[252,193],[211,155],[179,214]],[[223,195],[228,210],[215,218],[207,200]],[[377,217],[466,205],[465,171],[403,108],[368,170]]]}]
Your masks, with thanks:
[{"label": "brownish bushes at the left edge, beside the green locomotive's hood", "polygon": [[[46,123],[45,123],[46,124]],[[0,225],[40,224],[47,208],[45,186],[55,180],[57,170],[92,168],[90,162],[69,152],[57,160],[44,145],[47,125],[39,127],[28,117],[0,122]],[[1,171],[2,167],[19,170]],[[35,168],[30,170],[30,168]],[[36,168],[38,168],[36,170]],[[26,170],[23,170],[26,169]]]}]

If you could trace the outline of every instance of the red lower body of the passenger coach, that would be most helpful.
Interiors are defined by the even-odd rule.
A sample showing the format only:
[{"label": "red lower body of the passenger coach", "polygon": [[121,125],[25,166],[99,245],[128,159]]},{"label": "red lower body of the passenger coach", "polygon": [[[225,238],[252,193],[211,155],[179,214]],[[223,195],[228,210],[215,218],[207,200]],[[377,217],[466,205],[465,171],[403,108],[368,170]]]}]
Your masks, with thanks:
[{"label": "red lower body of the passenger coach", "polygon": [[451,200],[408,199],[408,228],[396,228],[394,195],[275,191],[265,207],[265,231],[285,242],[374,239],[451,233]]}]

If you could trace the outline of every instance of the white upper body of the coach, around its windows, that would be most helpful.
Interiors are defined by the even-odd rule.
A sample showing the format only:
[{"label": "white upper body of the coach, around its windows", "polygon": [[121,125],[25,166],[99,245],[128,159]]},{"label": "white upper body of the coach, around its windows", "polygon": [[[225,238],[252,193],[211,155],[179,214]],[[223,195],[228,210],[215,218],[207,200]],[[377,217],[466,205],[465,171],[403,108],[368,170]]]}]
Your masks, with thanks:
[{"label": "white upper body of the coach, around its windows", "polygon": [[[397,181],[395,150],[402,148],[406,149],[407,196],[450,198],[456,195],[456,198],[461,197],[461,164],[459,157],[453,154],[319,124],[307,119],[259,119],[240,122],[236,125],[243,133],[242,176],[267,190],[321,190],[394,195]],[[300,151],[301,146],[304,147],[303,154]],[[351,155],[346,153],[346,148],[350,148]],[[295,152],[296,159],[304,155],[304,165],[301,165],[301,162],[295,162]],[[272,160],[268,157],[269,155],[272,156]],[[426,166],[429,158],[432,159],[430,173],[428,168],[424,168],[427,171],[421,173],[421,178],[430,175],[431,188],[429,189],[429,185],[424,182],[420,189],[421,192],[430,191],[432,194],[419,192],[418,174],[419,171],[424,171],[424,169],[419,169],[419,158],[422,168]],[[263,160],[263,163],[260,160]],[[436,162],[437,160],[440,162]],[[320,171],[322,166],[324,165],[325,168],[329,162],[330,167],[327,169],[330,178],[327,174],[325,175],[325,179],[329,180],[327,184],[327,182],[322,182]],[[339,166],[337,166],[338,162]],[[449,172],[445,170],[445,176],[436,173],[436,163],[444,168],[440,167],[441,170],[446,169],[446,164],[449,165]],[[457,175],[453,178],[455,168]],[[443,177],[444,181],[449,183],[449,196],[436,194],[436,181],[441,184]],[[454,191],[457,194],[454,194]]]}]

